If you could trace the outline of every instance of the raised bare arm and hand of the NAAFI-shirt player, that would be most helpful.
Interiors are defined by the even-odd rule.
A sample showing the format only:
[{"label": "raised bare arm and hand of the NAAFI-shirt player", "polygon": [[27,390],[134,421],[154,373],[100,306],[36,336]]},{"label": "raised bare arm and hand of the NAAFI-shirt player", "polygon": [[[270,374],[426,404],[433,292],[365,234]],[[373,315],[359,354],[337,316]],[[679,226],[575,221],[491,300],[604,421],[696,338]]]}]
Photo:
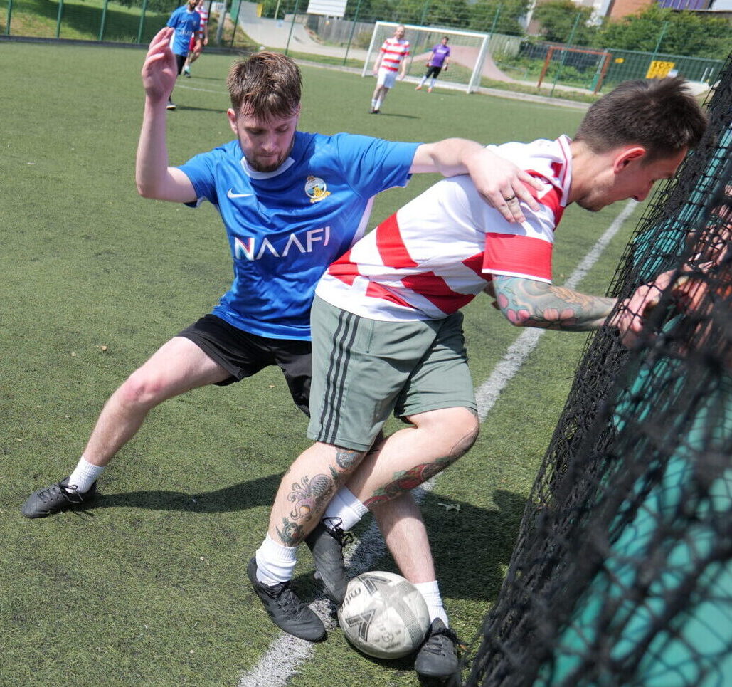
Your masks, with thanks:
[{"label": "raised bare arm and hand of the NAAFI-shirt player", "polygon": [[158,32],[142,67],[145,110],[135,160],[135,182],[138,193],[145,198],[190,203],[195,201],[193,184],[182,171],[168,166],[165,138],[166,106],[178,76],[170,48],[172,33],[173,29],[169,28]]}]

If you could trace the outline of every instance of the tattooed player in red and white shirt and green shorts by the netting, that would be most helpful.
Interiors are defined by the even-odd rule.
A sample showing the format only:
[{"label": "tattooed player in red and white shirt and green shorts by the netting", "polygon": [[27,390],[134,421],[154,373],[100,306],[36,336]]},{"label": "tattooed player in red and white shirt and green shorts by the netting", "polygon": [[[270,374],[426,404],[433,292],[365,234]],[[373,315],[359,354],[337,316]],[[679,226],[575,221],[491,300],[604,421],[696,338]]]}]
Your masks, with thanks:
[{"label": "tattooed player in red and white shirt and green shorts by the netting", "polygon": [[[641,316],[627,308],[608,320],[616,299],[552,285],[554,229],[570,203],[597,211],[646,198],[657,179],[673,177],[705,127],[681,79],[626,82],[589,108],[573,141],[561,136],[496,149],[541,182],[532,192],[538,209],[524,207],[523,223],[509,223],[482,203],[467,177],[452,177],[335,261],[318,283],[311,316],[307,434],[316,443],[280,484],[266,540],[253,559],[257,568],[287,582],[305,539],[326,588],[345,588],[342,557],[340,568],[330,562],[321,569],[318,549],[337,557],[333,524],[348,530],[373,510],[397,565],[432,616],[417,672],[455,672],[456,638],[409,490],[477,438],[460,308],[487,291],[517,326],[585,331],[607,323],[621,333],[640,330]],[[518,204],[512,195],[506,201]],[[384,438],[392,412],[408,426]]]}]

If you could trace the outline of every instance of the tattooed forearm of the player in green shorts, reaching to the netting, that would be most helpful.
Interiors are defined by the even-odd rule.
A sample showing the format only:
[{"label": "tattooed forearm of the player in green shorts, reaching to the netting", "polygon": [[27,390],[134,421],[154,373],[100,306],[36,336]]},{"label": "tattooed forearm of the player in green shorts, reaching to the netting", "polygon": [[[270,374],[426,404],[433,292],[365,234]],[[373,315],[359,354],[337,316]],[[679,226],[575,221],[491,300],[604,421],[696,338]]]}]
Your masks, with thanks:
[{"label": "tattooed forearm of the player in green shorts, reaching to the netting", "polygon": [[543,281],[496,275],[491,282],[497,307],[518,327],[580,332],[604,324],[616,299],[580,294]]}]

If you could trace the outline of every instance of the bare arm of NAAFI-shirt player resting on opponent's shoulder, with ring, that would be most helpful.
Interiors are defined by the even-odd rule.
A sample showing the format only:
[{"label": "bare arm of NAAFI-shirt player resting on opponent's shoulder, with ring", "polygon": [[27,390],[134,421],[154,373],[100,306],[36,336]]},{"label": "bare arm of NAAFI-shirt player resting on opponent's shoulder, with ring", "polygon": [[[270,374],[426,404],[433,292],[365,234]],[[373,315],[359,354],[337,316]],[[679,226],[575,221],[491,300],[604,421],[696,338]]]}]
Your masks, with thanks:
[{"label": "bare arm of NAAFI-shirt player resting on opponent's shoulder, with ring", "polygon": [[443,177],[470,174],[482,198],[509,222],[526,220],[521,202],[533,210],[539,209],[528,187],[540,190],[541,182],[509,160],[466,138],[445,138],[437,143],[422,144],[414,154],[409,171],[439,172]]}]

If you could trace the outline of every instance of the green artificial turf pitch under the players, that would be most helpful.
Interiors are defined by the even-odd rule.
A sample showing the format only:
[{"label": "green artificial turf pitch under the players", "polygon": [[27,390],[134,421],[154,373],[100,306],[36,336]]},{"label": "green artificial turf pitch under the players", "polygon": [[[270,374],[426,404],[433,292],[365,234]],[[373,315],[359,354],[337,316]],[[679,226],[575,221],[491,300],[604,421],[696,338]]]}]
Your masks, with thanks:
[{"label": "green artificial turf pitch under the players", "polygon": [[[211,310],[231,281],[220,220],[138,197],[143,51],[4,42],[0,214],[0,652],[9,687],[236,686],[279,636],[244,568],[264,536],[306,420],[265,371],[155,409],[85,514],[29,521],[20,505],[67,475],[112,391]],[[168,117],[171,163],[231,138],[229,56],[204,54]],[[368,114],[372,79],[303,67],[302,130],[485,143],[574,133],[581,113],[397,84]],[[372,225],[433,182],[378,199]],[[556,281],[619,212],[569,209]],[[580,288],[602,293],[632,222]],[[479,298],[466,310],[476,385],[520,330]],[[471,639],[495,598],[523,503],[569,390],[583,335],[547,333],[423,509],[452,623]],[[459,505],[447,509],[444,505]],[[392,569],[388,557],[376,569]],[[296,584],[315,592],[309,554]],[[337,629],[288,685],[412,686],[409,661],[372,661]],[[264,684],[263,687],[269,687]]]}]

